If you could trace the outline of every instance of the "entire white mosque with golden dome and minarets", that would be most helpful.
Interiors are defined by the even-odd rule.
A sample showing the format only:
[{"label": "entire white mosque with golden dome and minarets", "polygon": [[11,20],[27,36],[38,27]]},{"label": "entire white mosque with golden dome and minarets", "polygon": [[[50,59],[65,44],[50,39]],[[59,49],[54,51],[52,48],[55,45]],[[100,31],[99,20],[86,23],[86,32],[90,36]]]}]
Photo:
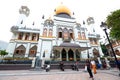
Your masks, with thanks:
[{"label": "entire white mosque with golden dome and minarets", "polygon": [[[103,56],[100,35],[96,33],[93,17],[78,23],[74,13],[65,5],[55,8],[54,15],[41,16],[39,28],[29,28],[24,23],[30,9],[21,6],[20,19],[11,27],[13,33],[6,51],[10,57],[29,57],[56,61],[80,61],[88,57]],[[32,23],[34,26],[35,22]]]}]

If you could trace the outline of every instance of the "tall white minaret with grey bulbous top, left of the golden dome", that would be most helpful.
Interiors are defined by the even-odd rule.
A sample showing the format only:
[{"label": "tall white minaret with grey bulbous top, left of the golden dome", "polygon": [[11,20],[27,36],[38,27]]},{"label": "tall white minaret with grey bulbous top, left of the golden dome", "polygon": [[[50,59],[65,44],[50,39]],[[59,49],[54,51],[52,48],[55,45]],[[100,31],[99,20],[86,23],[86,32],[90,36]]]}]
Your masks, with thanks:
[{"label": "tall white minaret with grey bulbous top, left of the golden dome", "polygon": [[19,9],[19,19],[17,22],[17,26],[19,27],[26,27],[26,18],[29,16],[30,14],[30,10],[27,6],[21,6]]}]

